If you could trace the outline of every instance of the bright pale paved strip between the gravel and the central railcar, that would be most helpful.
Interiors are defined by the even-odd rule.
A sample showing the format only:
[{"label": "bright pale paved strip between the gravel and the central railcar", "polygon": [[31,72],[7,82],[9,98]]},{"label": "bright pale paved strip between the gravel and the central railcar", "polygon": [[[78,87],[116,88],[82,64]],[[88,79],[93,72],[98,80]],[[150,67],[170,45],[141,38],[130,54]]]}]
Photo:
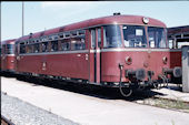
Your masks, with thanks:
[{"label": "bright pale paved strip between the gravel and the central railcar", "polygon": [[82,125],[188,125],[189,123],[188,113],[136,104],[120,97],[52,88],[10,77],[1,77],[1,90],[10,96]]}]

